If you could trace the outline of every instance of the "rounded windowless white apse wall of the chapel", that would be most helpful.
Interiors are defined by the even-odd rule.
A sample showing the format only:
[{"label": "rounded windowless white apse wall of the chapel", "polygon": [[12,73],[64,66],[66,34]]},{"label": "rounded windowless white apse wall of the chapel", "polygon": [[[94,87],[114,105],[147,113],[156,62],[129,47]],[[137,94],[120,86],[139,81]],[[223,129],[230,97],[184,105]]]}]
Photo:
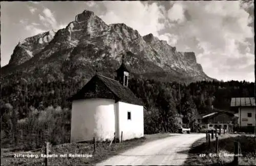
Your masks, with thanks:
[{"label": "rounded windowless white apse wall of the chapel", "polygon": [[113,139],[117,105],[112,99],[84,99],[72,102],[71,143]]}]

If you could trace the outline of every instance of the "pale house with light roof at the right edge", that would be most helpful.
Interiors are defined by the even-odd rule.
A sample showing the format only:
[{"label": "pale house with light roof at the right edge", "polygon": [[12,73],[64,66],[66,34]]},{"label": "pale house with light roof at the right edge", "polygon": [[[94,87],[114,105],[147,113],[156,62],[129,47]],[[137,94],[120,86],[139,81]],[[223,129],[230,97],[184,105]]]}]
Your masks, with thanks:
[{"label": "pale house with light roof at the right edge", "polygon": [[238,124],[243,126],[255,126],[255,98],[238,97],[231,98],[230,107],[238,115]]}]

